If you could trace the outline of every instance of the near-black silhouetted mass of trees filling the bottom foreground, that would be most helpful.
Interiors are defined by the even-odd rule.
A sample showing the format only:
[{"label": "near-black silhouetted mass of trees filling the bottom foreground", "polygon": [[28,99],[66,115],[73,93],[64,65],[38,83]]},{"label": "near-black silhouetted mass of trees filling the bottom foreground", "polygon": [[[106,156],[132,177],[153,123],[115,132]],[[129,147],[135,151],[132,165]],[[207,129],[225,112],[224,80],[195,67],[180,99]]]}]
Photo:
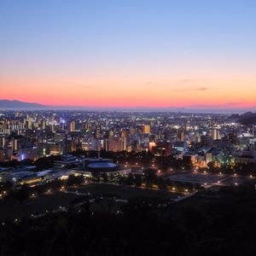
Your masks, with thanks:
[{"label": "near-black silhouetted mass of trees filling the bottom foreground", "polygon": [[164,208],[132,199],[117,214],[91,212],[88,201],[79,211],[5,222],[0,255],[255,255],[255,189],[217,194]]}]

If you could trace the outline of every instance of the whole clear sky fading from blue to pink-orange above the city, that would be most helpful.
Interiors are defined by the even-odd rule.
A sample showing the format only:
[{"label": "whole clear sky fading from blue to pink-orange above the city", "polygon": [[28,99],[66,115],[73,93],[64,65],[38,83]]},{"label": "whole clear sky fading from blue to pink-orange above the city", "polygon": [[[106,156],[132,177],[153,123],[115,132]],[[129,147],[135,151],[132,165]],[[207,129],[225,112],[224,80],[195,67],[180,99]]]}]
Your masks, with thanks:
[{"label": "whole clear sky fading from blue to pink-orange above the city", "polygon": [[1,0],[0,99],[256,109],[256,1]]}]

